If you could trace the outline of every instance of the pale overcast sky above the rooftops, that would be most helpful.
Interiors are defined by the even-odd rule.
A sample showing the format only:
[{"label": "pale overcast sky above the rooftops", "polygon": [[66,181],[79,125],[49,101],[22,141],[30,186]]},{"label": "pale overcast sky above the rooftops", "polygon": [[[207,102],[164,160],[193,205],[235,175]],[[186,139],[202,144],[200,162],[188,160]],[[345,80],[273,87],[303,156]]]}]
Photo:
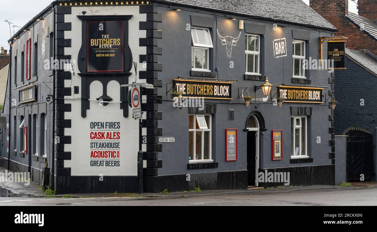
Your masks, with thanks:
[{"label": "pale overcast sky above the rooftops", "polygon": [[[309,4],[309,0],[303,0]],[[35,17],[39,12],[46,8],[53,0],[1,0],[0,3],[0,46],[9,50],[8,39],[13,36],[13,25],[11,33],[9,25],[4,20],[9,20],[17,26],[24,26],[28,21]],[[349,11],[357,13],[356,3],[349,1]],[[14,29],[17,32],[20,28]]]}]

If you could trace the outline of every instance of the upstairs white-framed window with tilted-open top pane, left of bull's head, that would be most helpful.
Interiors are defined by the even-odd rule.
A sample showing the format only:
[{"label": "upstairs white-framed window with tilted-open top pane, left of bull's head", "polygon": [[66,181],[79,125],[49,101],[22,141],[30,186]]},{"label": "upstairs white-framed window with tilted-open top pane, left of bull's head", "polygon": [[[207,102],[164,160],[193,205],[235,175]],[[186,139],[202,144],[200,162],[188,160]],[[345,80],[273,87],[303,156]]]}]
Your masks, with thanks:
[{"label": "upstairs white-framed window with tilted-open top pane, left of bull's head", "polygon": [[192,70],[210,71],[209,48],[213,48],[210,30],[208,28],[193,27],[191,29],[191,67]]}]

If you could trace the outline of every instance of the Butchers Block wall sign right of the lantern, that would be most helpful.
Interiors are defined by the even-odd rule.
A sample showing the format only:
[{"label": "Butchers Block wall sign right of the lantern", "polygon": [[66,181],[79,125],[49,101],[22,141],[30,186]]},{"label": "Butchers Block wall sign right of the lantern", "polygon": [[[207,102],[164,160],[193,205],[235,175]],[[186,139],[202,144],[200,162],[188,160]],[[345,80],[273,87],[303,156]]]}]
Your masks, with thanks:
[{"label": "Butchers Block wall sign right of the lantern", "polygon": [[291,103],[323,103],[323,88],[279,86],[279,97],[283,102]]}]

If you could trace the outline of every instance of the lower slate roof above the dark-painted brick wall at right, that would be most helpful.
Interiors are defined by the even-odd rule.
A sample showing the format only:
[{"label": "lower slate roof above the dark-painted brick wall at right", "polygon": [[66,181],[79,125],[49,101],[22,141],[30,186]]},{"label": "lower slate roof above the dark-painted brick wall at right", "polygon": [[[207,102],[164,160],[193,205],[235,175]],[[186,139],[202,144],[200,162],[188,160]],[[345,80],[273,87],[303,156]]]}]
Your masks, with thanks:
[{"label": "lower slate roof above the dark-painted brick wall at right", "polygon": [[371,55],[366,50],[352,50],[348,48],[346,48],[346,55],[377,76],[376,56]]}]

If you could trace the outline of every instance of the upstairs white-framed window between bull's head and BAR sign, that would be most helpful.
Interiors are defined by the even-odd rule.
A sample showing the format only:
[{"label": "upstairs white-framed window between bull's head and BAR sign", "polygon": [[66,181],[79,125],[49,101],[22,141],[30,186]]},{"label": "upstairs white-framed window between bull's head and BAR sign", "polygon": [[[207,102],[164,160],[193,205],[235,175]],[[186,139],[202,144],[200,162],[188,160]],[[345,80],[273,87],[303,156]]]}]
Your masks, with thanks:
[{"label": "upstairs white-framed window between bull's head and BAR sign", "polygon": [[260,43],[259,35],[245,36],[246,74],[259,74]]}]

